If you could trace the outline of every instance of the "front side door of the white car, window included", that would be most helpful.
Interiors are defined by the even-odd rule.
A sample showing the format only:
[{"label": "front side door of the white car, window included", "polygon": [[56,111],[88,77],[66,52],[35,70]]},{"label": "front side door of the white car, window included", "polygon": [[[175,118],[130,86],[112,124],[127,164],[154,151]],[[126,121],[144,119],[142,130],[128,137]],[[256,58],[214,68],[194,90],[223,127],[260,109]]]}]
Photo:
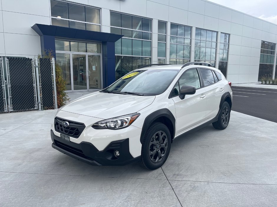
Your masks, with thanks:
[{"label": "front side door of the white car, window included", "polygon": [[[200,80],[197,68],[189,69],[184,72],[172,90],[172,99],[176,110],[176,135],[205,121],[206,90],[201,87]],[[193,95],[186,95],[182,100],[179,95],[183,85],[194,86],[196,92]]]}]

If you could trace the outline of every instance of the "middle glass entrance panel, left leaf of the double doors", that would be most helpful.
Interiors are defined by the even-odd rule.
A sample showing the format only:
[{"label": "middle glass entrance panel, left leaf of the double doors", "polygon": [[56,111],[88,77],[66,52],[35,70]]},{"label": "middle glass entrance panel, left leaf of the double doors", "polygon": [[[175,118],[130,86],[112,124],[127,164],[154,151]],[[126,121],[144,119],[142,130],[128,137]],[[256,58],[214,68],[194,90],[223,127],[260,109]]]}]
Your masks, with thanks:
[{"label": "middle glass entrance panel, left leaf of the double doors", "polygon": [[72,54],[73,91],[87,90],[86,54]]}]

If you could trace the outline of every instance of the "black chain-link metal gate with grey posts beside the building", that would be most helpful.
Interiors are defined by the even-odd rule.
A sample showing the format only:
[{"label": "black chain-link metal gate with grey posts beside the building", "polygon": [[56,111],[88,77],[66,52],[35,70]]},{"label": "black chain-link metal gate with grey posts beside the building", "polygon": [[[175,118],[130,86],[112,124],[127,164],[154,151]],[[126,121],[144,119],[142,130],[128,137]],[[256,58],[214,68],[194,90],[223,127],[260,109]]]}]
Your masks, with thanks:
[{"label": "black chain-link metal gate with grey posts beside the building", "polygon": [[1,57],[0,65],[0,112],[57,108],[54,58]]}]

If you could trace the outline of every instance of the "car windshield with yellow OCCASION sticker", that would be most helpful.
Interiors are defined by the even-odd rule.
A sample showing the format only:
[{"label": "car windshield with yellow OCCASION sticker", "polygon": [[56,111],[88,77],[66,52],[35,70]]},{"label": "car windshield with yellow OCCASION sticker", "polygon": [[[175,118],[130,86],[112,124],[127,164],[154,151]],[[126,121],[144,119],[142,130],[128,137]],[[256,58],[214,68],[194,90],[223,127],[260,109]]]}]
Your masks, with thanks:
[{"label": "car windshield with yellow OCCASION sticker", "polygon": [[159,95],[163,93],[180,70],[135,70],[101,92],[130,95]]}]

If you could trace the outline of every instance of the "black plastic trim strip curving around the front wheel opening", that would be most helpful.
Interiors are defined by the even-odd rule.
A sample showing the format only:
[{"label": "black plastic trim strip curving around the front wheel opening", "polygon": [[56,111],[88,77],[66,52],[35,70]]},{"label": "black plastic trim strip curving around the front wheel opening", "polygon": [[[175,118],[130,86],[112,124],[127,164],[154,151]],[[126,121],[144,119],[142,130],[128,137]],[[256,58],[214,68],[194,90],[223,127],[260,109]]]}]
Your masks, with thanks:
[{"label": "black plastic trim strip curving around the front wheel opening", "polygon": [[[159,110],[149,114],[145,118],[144,123],[143,123],[143,127],[142,127],[142,131],[141,131],[141,137],[140,137],[141,144],[143,142],[143,139],[144,139],[144,136],[146,134],[147,129],[150,127],[150,125],[156,119],[158,119],[160,117],[166,117],[166,118],[168,118],[172,122],[172,125],[173,125],[172,139],[174,138],[174,136],[175,136],[175,129],[176,129],[176,126],[175,126],[175,123],[176,123],[175,117],[173,116],[171,111],[169,111],[168,109],[164,108],[164,109],[159,109]],[[169,131],[170,131],[170,129],[169,129]]]}]

